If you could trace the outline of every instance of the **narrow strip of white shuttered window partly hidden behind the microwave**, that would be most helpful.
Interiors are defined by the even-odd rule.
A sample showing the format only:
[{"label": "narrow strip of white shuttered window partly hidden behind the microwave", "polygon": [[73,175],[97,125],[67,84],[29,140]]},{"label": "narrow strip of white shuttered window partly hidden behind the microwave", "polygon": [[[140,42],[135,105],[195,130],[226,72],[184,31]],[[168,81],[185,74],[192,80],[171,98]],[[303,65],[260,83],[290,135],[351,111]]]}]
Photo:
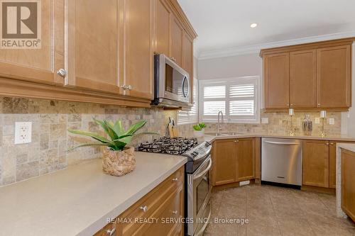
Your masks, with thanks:
[{"label": "narrow strip of white shuttered window partly hidden behind the microwave", "polygon": [[195,102],[194,105],[190,110],[184,110],[178,111],[178,125],[183,125],[183,124],[191,124],[191,123],[197,123],[198,122],[198,80],[194,78],[194,83],[193,83],[193,101]]}]

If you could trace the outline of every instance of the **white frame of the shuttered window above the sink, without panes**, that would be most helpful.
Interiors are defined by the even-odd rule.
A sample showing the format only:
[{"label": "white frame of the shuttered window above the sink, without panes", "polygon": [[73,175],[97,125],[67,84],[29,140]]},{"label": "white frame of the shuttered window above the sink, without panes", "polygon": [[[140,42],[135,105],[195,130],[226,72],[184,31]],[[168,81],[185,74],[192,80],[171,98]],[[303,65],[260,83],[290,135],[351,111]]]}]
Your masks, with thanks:
[{"label": "white frame of the shuttered window above the sink, without panes", "polygon": [[[229,115],[229,102],[230,101],[242,101],[244,99],[231,99],[229,98],[229,88],[231,85],[243,85],[243,84],[254,84],[255,86],[255,99],[254,100],[254,111],[255,115],[253,118],[250,116],[244,116],[241,118],[236,118],[235,116]],[[204,86],[226,86],[226,97],[225,99],[203,99]],[[203,116],[204,111],[204,101],[226,101],[224,113],[225,123],[260,123],[260,109],[261,109],[261,77],[260,76],[250,76],[250,77],[231,77],[225,79],[203,79],[199,80],[199,120],[205,123],[215,123],[217,122],[216,116]],[[246,99],[248,100],[248,99]]]}]

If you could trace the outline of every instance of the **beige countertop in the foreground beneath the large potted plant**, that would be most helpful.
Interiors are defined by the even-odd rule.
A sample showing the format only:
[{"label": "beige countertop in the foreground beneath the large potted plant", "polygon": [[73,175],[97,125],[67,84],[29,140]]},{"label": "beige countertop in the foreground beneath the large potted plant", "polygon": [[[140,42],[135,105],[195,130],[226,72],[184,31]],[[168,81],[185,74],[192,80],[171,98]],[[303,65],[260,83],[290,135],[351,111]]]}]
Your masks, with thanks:
[{"label": "beige countertop in the foreground beneath the large potted plant", "polygon": [[0,188],[0,235],[93,235],[187,162],[136,152],[136,169],[116,177],[102,160]]}]

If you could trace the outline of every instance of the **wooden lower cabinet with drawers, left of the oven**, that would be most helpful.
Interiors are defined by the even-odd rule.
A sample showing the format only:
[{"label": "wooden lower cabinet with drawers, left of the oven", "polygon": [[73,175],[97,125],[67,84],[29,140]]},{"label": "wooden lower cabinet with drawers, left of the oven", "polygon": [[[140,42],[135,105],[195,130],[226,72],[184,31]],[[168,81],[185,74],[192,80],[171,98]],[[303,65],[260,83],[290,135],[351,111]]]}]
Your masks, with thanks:
[{"label": "wooden lower cabinet with drawers, left of the oven", "polygon": [[[182,235],[183,225],[178,219],[184,217],[184,178],[182,167],[119,215],[117,235]],[[135,222],[149,218],[158,222]],[[174,218],[175,222],[166,223],[166,218]],[[122,223],[124,219],[132,219],[132,223]]]}]

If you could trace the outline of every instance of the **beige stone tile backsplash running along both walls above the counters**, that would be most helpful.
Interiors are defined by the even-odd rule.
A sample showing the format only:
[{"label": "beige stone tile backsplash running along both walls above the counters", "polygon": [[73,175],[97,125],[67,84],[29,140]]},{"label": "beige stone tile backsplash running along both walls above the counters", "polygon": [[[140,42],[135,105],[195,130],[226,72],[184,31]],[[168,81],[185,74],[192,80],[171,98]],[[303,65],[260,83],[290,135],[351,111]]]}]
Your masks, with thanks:
[{"label": "beige stone tile backsplash running along both walls above the counters", "polygon": [[[22,181],[35,176],[65,169],[72,164],[87,159],[99,158],[99,147],[82,147],[67,152],[70,147],[87,141],[84,137],[67,133],[68,128],[90,130],[101,133],[92,118],[123,120],[127,128],[138,120],[147,120],[142,131],[155,131],[167,135],[168,117],[176,120],[176,111],[163,111],[159,108],[125,108],[121,106],[94,103],[75,103],[40,99],[18,99],[0,97],[0,186]],[[319,113],[310,113],[312,120]],[[300,124],[305,113],[295,113],[294,124],[300,132]],[[242,133],[287,133],[289,117],[285,113],[262,113],[268,124],[224,124],[224,131]],[[335,119],[335,125],[326,125],[327,133],[340,134],[340,113],[328,113]],[[14,127],[17,121],[32,122],[32,142],[14,145]],[[314,133],[320,125],[314,123]],[[179,125],[180,136],[191,137],[192,125]],[[206,132],[214,132],[215,123],[207,124]],[[155,135],[156,136],[156,135]],[[152,135],[139,137],[139,142],[151,141]]]}]

